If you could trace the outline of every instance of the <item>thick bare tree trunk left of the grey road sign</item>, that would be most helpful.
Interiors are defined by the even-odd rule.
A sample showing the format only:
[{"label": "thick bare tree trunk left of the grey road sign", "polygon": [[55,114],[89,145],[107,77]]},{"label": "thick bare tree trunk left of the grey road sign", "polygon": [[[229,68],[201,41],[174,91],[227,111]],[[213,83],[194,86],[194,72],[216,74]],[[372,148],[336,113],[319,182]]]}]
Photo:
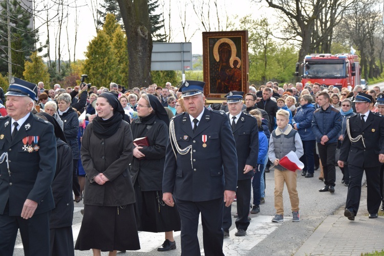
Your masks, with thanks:
[{"label": "thick bare tree trunk left of the grey road sign", "polygon": [[146,0],[118,0],[125,26],[129,59],[129,88],[151,83],[152,35]]}]

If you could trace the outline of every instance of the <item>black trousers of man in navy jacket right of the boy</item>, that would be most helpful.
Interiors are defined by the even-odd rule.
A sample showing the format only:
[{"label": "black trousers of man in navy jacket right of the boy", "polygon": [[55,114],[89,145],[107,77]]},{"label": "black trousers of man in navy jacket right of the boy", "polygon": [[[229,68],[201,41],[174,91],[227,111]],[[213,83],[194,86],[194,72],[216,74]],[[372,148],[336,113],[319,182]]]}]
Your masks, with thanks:
[{"label": "black trousers of man in navy jacket right of the boy", "polygon": [[336,182],[336,146],[337,142],[325,145],[317,143],[318,155],[323,164],[324,184],[329,186],[335,186]]}]

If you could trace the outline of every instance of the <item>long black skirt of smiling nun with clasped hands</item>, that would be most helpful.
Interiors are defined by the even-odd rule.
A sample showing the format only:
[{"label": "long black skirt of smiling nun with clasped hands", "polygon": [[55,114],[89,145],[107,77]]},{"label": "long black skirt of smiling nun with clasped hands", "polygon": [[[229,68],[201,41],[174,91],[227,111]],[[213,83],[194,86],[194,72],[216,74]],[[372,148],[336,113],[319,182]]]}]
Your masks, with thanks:
[{"label": "long black skirt of smiling nun with clasped hands", "polygon": [[84,216],[75,249],[139,250],[134,204],[84,205]]}]

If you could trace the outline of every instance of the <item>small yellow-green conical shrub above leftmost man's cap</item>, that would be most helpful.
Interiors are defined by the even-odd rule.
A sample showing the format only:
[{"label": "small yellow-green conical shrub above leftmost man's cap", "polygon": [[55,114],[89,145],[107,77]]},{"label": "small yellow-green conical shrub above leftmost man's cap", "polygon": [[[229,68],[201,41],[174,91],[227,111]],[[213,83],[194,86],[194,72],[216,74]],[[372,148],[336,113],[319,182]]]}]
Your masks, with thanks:
[{"label": "small yellow-green conical shrub above leftmost man's cap", "polygon": [[31,61],[26,61],[24,65],[24,79],[32,83],[38,83],[39,81],[49,84],[48,68],[44,64],[42,57],[37,55],[37,51],[31,55]]}]

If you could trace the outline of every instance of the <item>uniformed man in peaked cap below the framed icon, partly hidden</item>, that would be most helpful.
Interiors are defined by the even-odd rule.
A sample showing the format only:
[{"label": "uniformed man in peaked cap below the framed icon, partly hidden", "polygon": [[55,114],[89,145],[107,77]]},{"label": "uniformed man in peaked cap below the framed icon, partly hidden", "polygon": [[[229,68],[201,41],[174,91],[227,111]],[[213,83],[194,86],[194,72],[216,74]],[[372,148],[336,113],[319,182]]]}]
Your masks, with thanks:
[{"label": "uniformed man in peaked cap below the framed icon, partly hidden", "polygon": [[[241,111],[243,106],[243,92],[229,92],[225,97],[228,104],[228,120],[238,157],[238,183],[237,183],[237,212],[235,221],[237,232],[234,234],[243,237],[249,226],[249,204],[251,202],[251,178],[253,169],[258,163],[259,154],[259,128],[256,118]],[[260,179],[259,179],[260,180]],[[255,206],[260,205],[259,203]],[[260,208],[259,208],[260,211]],[[229,237],[229,228],[232,225],[231,207],[224,208],[223,231],[224,237]]]}]

